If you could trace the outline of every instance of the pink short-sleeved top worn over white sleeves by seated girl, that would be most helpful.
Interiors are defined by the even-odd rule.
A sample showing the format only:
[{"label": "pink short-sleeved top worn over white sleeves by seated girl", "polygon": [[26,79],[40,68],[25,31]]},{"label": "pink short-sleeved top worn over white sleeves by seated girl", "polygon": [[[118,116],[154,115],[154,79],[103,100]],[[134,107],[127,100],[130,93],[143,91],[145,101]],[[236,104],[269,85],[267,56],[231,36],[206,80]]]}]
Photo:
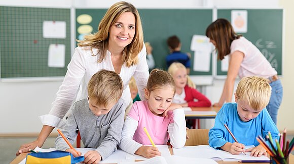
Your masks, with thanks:
[{"label": "pink short-sleeved top worn over white sleeves by seated girl", "polygon": [[149,110],[147,100],[136,101],[128,114],[129,117],[138,121],[133,140],[143,145],[151,145],[143,130],[146,127],[156,145],[165,145],[169,139],[167,127],[173,123],[173,112],[169,111],[167,115],[168,117],[156,116]]}]

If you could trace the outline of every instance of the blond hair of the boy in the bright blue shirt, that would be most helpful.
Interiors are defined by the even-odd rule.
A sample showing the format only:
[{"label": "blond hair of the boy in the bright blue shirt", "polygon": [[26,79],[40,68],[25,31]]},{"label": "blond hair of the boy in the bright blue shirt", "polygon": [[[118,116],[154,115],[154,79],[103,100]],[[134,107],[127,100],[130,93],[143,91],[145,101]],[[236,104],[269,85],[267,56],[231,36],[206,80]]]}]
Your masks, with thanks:
[{"label": "blond hair of the boy in the bright blue shirt", "polygon": [[244,77],[237,86],[236,98],[238,101],[247,103],[254,110],[260,110],[269,103],[271,90],[272,88],[265,78]]}]

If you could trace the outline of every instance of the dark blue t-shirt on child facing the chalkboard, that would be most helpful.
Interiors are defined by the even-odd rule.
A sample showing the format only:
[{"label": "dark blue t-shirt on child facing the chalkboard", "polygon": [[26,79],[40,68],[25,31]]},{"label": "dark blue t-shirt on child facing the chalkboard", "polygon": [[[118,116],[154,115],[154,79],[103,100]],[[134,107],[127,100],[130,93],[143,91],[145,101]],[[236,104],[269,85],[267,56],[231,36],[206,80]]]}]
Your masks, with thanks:
[{"label": "dark blue t-shirt on child facing the chalkboard", "polygon": [[182,53],[180,51],[174,51],[169,54],[166,58],[166,66],[169,67],[174,62],[179,62],[183,64],[186,68],[190,68],[190,58],[187,53]]}]

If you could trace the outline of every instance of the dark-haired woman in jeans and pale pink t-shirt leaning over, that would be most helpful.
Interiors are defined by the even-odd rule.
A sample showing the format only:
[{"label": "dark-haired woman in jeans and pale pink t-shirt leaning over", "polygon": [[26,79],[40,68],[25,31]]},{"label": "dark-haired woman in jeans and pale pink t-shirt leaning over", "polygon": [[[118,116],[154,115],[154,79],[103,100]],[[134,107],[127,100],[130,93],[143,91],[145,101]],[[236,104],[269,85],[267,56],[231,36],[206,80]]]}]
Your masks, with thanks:
[{"label": "dark-haired woman in jeans and pale pink t-shirt leaning over", "polygon": [[234,83],[237,75],[260,76],[268,79],[272,87],[269,104],[266,106],[274,123],[277,124],[277,114],[280,107],[283,87],[277,76],[277,71],[271,66],[262,52],[242,35],[235,33],[231,23],[226,19],[217,19],[206,29],[206,36],[215,46],[217,59],[229,57],[229,69],[222,96],[213,106],[222,106],[224,102],[231,102]]}]

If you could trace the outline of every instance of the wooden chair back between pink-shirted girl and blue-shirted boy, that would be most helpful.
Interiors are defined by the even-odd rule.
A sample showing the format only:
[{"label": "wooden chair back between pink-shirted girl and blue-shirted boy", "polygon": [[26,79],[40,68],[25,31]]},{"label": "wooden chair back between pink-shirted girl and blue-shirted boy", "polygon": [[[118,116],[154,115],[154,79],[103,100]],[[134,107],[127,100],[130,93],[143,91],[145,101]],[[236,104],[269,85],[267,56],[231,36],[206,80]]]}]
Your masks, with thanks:
[{"label": "wooden chair back between pink-shirted girl and blue-shirted boy", "polygon": [[187,136],[185,146],[208,145],[209,129],[187,129]]}]

